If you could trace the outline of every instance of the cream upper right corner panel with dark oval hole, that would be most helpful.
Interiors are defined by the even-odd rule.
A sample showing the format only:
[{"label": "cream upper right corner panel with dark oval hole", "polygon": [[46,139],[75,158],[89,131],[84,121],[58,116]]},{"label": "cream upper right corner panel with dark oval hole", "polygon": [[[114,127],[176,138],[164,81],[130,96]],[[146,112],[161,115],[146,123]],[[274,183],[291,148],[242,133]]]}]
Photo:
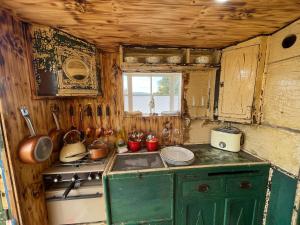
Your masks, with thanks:
[{"label": "cream upper right corner panel with dark oval hole", "polygon": [[270,37],[268,63],[299,56],[299,48],[300,21],[296,21]]}]

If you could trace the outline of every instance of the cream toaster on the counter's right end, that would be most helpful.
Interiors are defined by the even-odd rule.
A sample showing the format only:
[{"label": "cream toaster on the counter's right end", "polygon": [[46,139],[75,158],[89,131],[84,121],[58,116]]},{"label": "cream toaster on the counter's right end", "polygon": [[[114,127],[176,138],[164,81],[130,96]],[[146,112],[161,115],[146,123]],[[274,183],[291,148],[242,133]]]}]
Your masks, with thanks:
[{"label": "cream toaster on the counter's right end", "polygon": [[235,127],[221,127],[211,131],[210,144],[215,148],[230,152],[241,149],[242,132]]}]

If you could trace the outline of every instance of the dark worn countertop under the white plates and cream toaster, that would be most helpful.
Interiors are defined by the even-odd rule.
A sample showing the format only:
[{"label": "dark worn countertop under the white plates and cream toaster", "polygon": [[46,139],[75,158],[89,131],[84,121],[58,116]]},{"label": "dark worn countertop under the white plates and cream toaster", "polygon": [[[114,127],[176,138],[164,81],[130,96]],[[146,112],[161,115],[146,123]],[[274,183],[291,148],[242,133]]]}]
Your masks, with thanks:
[{"label": "dark worn countertop under the white plates and cream toaster", "polygon": [[[199,145],[184,145],[184,148],[190,149],[195,154],[195,161],[189,166],[174,166],[165,163],[165,166],[153,167],[153,160],[151,159],[151,154],[158,154],[159,152],[147,153],[145,150],[141,150],[138,153],[125,153],[119,156],[126,155],[125,161],[119,162],[119,157],[112,157],[110,166],[108,166],[106,173],[131,173],[131,172],[151,172],[160,170],[178,170],[178,169],[189,169],[189,168],[204,168],[204,167],[221,167],[221,166],[243,166],[243,165],[259,165],[259,164],[269,164],[267,161],[263,161],[255,156],[252,156],[244,151],[238,153],[223,151],[217,148],[213,148],[208,144]],[[132,154],[132,156],[131,156]],[[149,154],[149,155],[148,155]],[[144,155],[143,158],[137,160],[137,156]],[[149,156],[149,157],[148,157]],[[139,164],[144,164],[140,166]],[[120,167],[120,165],[121,167]],[[114,166],[115,165],[115,166]]]}]

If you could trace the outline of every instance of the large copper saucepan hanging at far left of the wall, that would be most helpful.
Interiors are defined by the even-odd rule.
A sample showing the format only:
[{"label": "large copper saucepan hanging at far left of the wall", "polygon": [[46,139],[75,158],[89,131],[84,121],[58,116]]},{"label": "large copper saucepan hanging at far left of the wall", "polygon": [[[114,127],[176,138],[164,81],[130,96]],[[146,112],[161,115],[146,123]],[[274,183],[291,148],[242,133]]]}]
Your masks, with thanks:
[{"label": "large copper saucepan hanging at far left of the wall", "polygon": [[25,138],[20,143],[19,158],[24,163],[44,162],[49,159],[52,153],[52,140],[47,135],[36,135],[27,108],[21,107],[20,111],[30,131],[30,137]]}]

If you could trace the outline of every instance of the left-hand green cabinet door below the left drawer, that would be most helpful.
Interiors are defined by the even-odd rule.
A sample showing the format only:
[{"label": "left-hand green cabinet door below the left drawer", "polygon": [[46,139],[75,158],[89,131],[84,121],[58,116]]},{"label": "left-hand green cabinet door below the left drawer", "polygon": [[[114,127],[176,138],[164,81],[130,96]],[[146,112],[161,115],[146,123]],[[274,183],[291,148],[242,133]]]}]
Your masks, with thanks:
[{"label": "left-hand green cabinet door below the left drawer", "polygon": [[181,217],[176,224],[219,225],[222,221],[222,199],[193,198],[184,200]]}]

